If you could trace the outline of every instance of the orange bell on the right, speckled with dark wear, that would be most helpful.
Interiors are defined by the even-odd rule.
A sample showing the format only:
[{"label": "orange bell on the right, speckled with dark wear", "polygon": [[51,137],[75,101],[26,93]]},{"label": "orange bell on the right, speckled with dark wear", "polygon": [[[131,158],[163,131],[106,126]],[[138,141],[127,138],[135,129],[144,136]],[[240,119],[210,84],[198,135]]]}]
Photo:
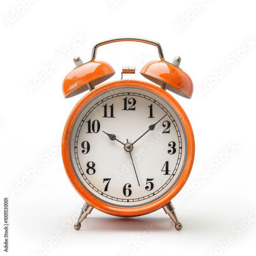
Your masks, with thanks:
[{"label": "orange bell on the right, speckled with dark wear", "polygon": [[161,60],[152,60],[141,69],[140,74],[162,86],[167,83],[167,90],[185,98],[193,94],[191,78],[180,68]]}]

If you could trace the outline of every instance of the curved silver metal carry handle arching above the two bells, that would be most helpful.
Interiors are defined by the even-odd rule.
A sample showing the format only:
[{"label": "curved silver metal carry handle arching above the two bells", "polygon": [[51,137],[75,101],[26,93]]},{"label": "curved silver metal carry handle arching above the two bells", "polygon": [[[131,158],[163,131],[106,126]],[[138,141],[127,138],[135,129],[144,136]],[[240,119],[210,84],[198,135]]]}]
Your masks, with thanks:
[{"label": "curved silver metal carry handle arching above the two bells", "polygon": [[144,42],[145,44],[156,46],[158,49],[160,59],[165,61],[164,56],[163,56],[162,47],[158,42],[150,40],[150,39],[140,38],[140,37],[117,37],[117,38],[112,38],[112,39],[108,39],[108,40],[104,40],[104,41],[99,41],[93,47],[91,61],[95,60],[98,47],[110,44],[111,42],[121,42],[121,41]]}]

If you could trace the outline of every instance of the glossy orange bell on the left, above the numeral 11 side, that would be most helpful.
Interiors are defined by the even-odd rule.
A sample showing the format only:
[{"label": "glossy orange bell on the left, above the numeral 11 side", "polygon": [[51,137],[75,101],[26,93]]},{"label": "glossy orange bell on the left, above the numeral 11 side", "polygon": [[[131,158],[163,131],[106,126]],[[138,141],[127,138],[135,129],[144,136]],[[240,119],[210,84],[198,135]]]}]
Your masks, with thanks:
[{"label": "glossy orange bell on the left, above the numeral 11 side", "polygon": [[62,83],[65,98],[73,97],[95,87],[115,74],[114,69],[104,61],[91,61],[73,69]]}]

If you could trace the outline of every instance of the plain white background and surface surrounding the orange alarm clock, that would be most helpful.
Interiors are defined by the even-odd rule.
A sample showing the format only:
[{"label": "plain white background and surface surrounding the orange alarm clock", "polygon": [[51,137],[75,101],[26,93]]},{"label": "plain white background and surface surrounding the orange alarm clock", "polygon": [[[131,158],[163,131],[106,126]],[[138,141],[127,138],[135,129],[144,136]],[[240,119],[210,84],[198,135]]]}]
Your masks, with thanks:
[{"label": "plain white background and surface surrounding the orange alarm clock", "polygon": [[[254,3],[21,2],[2,3],[0,24],[1,223],[9,197],[9,254],[255,254]],[[134,219],[94,209],[80,231],[72,227],[83,200],[66,176],[59,141],[83,95],[64,99],[61,85],[74,56],[87,62],[97,41],[117,36],[160,42],[165,59],[181,56],[194,82],[191,100],[173,95],[196,139],[193,170],[173,199],[181,231],[162,209]],[[96,59],[110,63],[117,80],[122,66],[136,66],[133,77],[142,79],[139,69],[158,58],[153,46],[123,42],[101,47]],[[0,235],[3,241],[4,229]]]}]

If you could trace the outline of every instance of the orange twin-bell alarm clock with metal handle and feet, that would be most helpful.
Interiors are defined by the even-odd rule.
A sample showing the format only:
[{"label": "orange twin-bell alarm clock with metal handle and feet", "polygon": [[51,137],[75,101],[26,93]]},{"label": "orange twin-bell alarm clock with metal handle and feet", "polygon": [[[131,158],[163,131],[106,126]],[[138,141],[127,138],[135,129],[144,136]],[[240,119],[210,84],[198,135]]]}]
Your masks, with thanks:
[{"label": "orange twin-bell alarm clock with metal handle and feet", "polygon": [[[123,79],[135,67],[123,67],[120,80],[103,83],[115,74],[95,60],[98,47],[119,41],[156,46],[160,60],[148,62],[140,74],[153,83]],[[179,68],[181,58],[165,61],[156,41],[125,37],[98,42],[92,58],[64,79],[65,98],[86,95],[68,117],[62,137],[67,175],[84,199],[74,228],[96,208],[118,217],[135,217],[163,208],[180,230],[171,200],[179,193],[193,166],[195,142],[187,115],[172,95],[193,94],[193,82]],[[102,84],[103,83],[103,84]]]}]

